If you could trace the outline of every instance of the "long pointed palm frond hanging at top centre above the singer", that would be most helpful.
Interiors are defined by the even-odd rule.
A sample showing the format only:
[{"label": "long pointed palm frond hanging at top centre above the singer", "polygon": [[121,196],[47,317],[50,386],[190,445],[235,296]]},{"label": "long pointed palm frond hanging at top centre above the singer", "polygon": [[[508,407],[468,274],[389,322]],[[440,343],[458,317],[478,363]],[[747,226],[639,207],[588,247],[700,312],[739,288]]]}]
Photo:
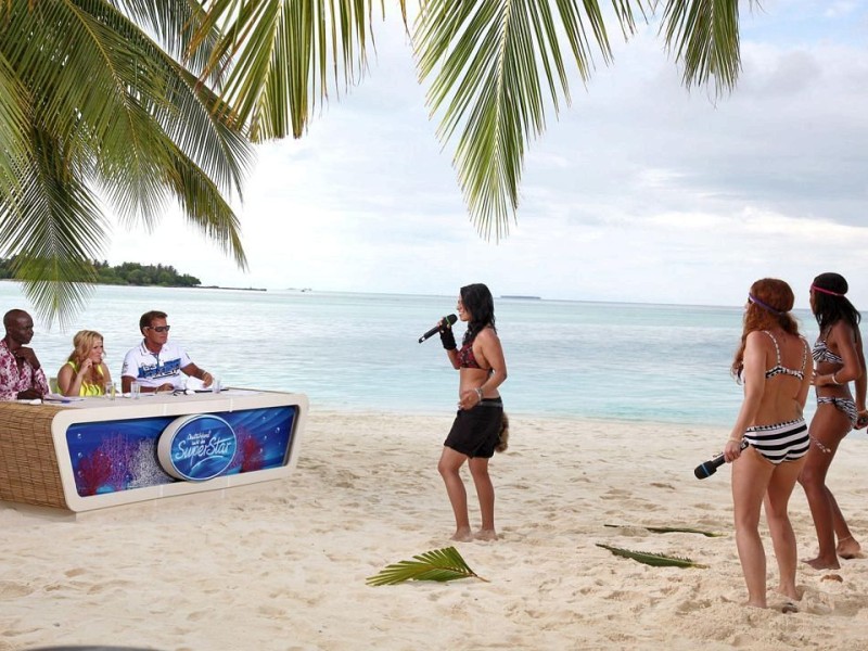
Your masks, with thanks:
[{"label": "long pointed palm frond hanging at top centre above the singer", "polygon": [[[602,14],[597,2],[579,9],[571,0],[423,4],[413,40],[420,77],[433,76],[427,103],[443,111],[442,141],[460,130],[454,162],[471,219],[481,235],[499,240],[514,219],[524,152],[545,129],[547,101],[556,114],[561,98],[570,103],[562,51],[573,53],[583,80],[595,65],[593,41],[611,59]],[[621,10],[633,30],[630,4]]]}]

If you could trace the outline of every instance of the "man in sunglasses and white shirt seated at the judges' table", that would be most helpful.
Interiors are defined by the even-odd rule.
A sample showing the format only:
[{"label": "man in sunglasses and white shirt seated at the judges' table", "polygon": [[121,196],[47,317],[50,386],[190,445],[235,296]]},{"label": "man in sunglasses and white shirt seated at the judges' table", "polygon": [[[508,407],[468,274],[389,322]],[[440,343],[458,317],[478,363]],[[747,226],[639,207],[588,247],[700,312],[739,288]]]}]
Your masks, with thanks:
[{"label": "man in sunglasses and white shirt seated at the judges' table", "polygon": [[200,369],[187,352],[170,344],[166,312],[151,310],[139,319],[142,343],[124,356],[120,370],[120,391],[129,393],[132,382],[138,382],[142,393],[175,391],[183,387],[183,375],[202,380],[207,387],[214,382],[210,373]]}]

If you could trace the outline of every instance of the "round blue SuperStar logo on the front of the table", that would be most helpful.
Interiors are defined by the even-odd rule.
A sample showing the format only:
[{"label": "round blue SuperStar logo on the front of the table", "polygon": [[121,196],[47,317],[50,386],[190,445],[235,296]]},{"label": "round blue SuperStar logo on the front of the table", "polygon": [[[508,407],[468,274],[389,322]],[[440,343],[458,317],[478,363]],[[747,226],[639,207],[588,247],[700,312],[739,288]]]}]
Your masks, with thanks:
[{"label": "round blue SuperStar logo on the front of the table", "polygon": [[226,472],[238,450],[232,425],[219,416],[196,413],[175,419],[157,444],[159,464],[179,480],[204,482]]}]

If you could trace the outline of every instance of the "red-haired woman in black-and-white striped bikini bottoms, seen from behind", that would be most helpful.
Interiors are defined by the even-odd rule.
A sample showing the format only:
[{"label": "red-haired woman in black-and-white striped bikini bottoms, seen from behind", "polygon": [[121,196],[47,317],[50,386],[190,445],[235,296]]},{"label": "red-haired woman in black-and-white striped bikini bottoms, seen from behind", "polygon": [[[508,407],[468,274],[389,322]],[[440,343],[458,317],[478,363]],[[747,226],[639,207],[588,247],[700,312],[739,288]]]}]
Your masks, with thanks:
[{"label": "red-haired woman in black-and-white striped bikini bottoms, seen from behind", "polygon": [[748,586],[748,605],[766,608],[766,554],[760,537],[765,502],[780,583],[778,592],[794,612],[795,534],[788,503],[808,450],[802,417],[810,388],[808,345],[790,315],[793,292],[782,280],[766,278],[751,285],[744,307],[741,345],[732,373],[744,384],[744,399],[724,448],[732,463],[736,545]]}]

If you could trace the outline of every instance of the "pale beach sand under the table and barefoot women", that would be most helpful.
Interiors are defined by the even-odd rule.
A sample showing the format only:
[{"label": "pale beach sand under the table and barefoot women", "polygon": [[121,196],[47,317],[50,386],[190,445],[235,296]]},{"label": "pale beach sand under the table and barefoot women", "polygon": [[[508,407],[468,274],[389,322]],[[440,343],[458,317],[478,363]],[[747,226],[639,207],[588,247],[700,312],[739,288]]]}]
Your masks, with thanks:
[{"label": "pale beach sand under the table and barefoot women", "polygon": [[[740,605],[729,468],[703,481],[692,472],[725,430],[513,414],[510,449],[492,462],[500,539],[452,544],[436,471],[450,420],[315,410],[285,481],[77,516],[0,503],[0,651],[866,648],[868,559],[839,571],[801,564],[797,613]],[[866,547],[867,449],[865,433],[851,434],[829,478]],[[808,558],[816,540],[800,487],[791,515]],[[597,542],[709,567],[652,567]],[[451,545],[489,583],[366,585]]]}]

